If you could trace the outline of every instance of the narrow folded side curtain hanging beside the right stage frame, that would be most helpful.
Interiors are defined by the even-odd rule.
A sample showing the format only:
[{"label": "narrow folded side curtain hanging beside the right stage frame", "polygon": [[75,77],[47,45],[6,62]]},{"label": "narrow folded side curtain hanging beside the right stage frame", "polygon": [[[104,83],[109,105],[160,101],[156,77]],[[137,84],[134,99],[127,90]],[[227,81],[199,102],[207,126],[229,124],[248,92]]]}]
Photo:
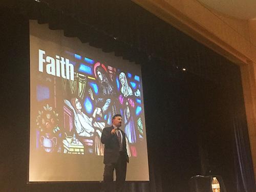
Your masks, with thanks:
[{"label": "narrow folded side curtain hanging beside the right stage frame", "polygon": [[[241,79],[241,78],[240,78]],[[234,100],[232,110],[232,121],[234,129],[234,165],[236,167],[236,184],[238,191],[256,191],[254,185],[254,173],[252,168],[252,159],[250,152],[250,142],[248,138],[248,129],[246,122],[245,106],[243,104],[242,88],[238,86],[241,80],[234,81],[233,88],[237,97]]]}]

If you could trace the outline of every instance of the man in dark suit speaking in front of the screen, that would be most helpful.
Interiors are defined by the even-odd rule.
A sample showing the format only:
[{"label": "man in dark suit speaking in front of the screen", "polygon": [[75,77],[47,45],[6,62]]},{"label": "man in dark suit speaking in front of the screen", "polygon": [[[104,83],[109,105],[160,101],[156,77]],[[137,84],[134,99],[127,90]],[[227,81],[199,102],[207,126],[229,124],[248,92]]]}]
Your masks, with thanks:
[{"label": "man in dark suit speaking in front of the screen", "polygon": [[129,157],[126,151],[125,134],[120,127],[122,125],[122,116],[116,114],[112,118],[112,126],[105,127],[102,131],[101,142],[105,144],[104,148],[104,173],[103,188],[105,192],[114,191],[113,176],[116,170],[116,189],[117,192],[123,191],[126,177],[126,165],[129,163]]}]

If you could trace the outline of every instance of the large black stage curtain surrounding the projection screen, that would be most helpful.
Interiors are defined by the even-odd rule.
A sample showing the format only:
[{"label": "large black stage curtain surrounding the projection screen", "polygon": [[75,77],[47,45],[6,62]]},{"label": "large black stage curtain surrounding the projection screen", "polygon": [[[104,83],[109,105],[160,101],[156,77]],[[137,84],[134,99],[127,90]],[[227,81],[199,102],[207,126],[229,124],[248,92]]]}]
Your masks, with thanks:
[{"label": "large black stage curtain surrounding the projection screen", "polygon": [[227,191],[255,191],[239,67],[131,1],[7,2],[0,15],[3,191],[100,188],[27,184],[29,19],[142,65],[151,181],[128,182],[126,191],[188,191],[198,174],[221,175]]}]

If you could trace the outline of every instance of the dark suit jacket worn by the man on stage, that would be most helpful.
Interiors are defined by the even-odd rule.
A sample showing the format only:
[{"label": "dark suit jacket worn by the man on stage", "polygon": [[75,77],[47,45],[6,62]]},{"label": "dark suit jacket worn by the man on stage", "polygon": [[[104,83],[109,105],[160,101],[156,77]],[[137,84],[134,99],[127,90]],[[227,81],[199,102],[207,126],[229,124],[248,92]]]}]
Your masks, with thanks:
[{"label": "dark suit jacket worn by the man on stage", "polygon": [[[113,129],[114,129],[113,126],[109,126],[109,127],[105,127],[102,131],[101,142],[105,144],[104,161],[103,161],[104,164],[116,163],[120,156],[118,137],[116,134],[111,134],[111,130]],[[123,152],[122,153],[126,156],[127,162],[129,162],[129,157],[127,155],[127,150],[126,150],[125,134],[122,130],[120,131],[123,135],[123,139],[122,139]]]}]

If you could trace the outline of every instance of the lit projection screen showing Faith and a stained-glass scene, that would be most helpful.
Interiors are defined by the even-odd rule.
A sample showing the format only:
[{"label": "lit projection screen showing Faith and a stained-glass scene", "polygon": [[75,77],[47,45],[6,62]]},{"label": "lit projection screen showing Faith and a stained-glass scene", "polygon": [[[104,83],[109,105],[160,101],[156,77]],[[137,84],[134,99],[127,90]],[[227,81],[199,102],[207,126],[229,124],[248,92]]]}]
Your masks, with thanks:
[{"label": "lit projection screen showing Faith and a stained-glass scene", "polygon": [[101,181],[102,129],[121,114],[126,180],[148,181],[139,65],[30,21],[29,182]]}]

